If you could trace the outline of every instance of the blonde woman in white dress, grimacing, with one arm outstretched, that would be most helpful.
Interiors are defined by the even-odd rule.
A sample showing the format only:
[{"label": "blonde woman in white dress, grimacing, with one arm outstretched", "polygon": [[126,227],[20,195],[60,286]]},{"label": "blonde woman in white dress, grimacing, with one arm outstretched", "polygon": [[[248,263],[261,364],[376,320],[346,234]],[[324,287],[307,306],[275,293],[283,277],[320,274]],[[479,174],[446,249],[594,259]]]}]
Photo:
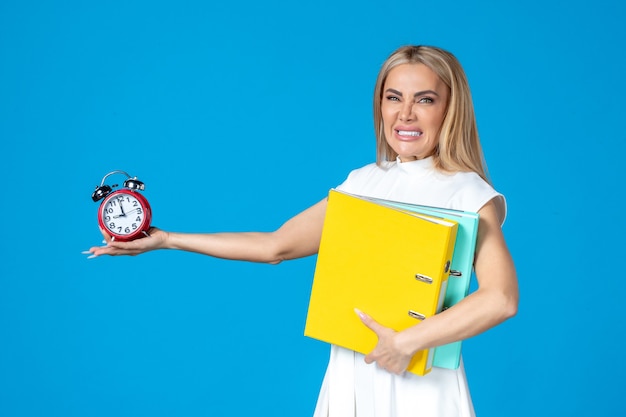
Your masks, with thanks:
[{"label": "blonde woman in white dress, grimacing, with one arm outstretched", "polygon": [[[517,312],[517,277],[501,230],[506,203],[487,180],[469,85],[457,59],[427,46],[393,52],[376,82],[374,123],[377,162],[352,171],[337,188],[478,212],[478,289],[402,332],[360,312],[378,344],[366,356],[331,347],[315,416],[473,416],[463,365],[433,368],[423,377],[404,372],[416,352],[475,336]],[[181,234],[154,228],[150,237],[126,243],[105,235],[107,245],[90,253],[135,255],[167,248],[277,264],[317,253],[325,210],[323,199],[268,233]]]}]

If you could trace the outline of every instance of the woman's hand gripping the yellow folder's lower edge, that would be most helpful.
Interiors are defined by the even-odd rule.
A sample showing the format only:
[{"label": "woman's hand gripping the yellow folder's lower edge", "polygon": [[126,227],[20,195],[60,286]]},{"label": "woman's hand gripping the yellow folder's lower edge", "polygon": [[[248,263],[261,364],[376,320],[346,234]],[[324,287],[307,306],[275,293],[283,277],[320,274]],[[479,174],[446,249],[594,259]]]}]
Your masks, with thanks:
[{"label": "woman's hand gripping the yellow folder's lower edge", "polygon": [[378,336],[378,343],[374,350],[365,356],[365,362],[376,362],[379,367],[393,374],[400,375],[406,371],[413,355],[410,352],[403,351],[399,346],[397,336],[400,333],[383,326],[360,310],[355,311],[363,324]]}]

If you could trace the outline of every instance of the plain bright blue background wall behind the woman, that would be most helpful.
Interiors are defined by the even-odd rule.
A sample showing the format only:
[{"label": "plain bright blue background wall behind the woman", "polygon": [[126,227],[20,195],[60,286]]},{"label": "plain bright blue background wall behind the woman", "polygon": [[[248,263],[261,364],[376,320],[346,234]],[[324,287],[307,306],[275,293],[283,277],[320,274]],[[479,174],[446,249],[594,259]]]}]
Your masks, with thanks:
[{"label": "plain bright blue background wall behind the woman", "polygon": [[521,307],[464,344],[479,415],[616,415],[625,17],[603,0],[2,2],[0,415],[310,415],[315,259],[86,260],[90,195],[123,169],[162,228],[275,229],[373,161],[374,78],[408,43],[463,63],[509,202]]}]

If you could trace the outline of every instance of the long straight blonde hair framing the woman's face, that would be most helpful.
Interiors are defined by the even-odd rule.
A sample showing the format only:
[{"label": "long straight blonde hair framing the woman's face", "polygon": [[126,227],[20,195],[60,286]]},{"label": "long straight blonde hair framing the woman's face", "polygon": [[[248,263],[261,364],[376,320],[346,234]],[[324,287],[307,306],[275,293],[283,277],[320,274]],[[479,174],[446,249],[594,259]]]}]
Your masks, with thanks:
[{"label": "long straight blonde hair framing the woman's face", "polygon": [[447,172],[473,171],[489,182],[465,71],[454,55],[433,46],[403,46],[385,60],[378,73],[374,89],[376,163],[380,165],[398,156],[385,137],[381,101],[389,71],[402,64],[426,65],[450,90],[439,144],[433,155],[435,167]]}]

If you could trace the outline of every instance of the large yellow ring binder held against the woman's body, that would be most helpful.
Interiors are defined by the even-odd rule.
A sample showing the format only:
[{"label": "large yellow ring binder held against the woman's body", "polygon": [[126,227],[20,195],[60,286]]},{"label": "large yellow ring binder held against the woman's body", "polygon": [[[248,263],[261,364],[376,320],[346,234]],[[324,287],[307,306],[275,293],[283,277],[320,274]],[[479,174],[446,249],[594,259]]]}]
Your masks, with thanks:
[{"label": "large yellow ring binder held against the woman's body", "polygon": [[[443,306],[458,224],[330,190],[304,334],[363,354],[377,343],[354,312],[401,331]],[[408,371],[425,375],[434,350]]]}]

